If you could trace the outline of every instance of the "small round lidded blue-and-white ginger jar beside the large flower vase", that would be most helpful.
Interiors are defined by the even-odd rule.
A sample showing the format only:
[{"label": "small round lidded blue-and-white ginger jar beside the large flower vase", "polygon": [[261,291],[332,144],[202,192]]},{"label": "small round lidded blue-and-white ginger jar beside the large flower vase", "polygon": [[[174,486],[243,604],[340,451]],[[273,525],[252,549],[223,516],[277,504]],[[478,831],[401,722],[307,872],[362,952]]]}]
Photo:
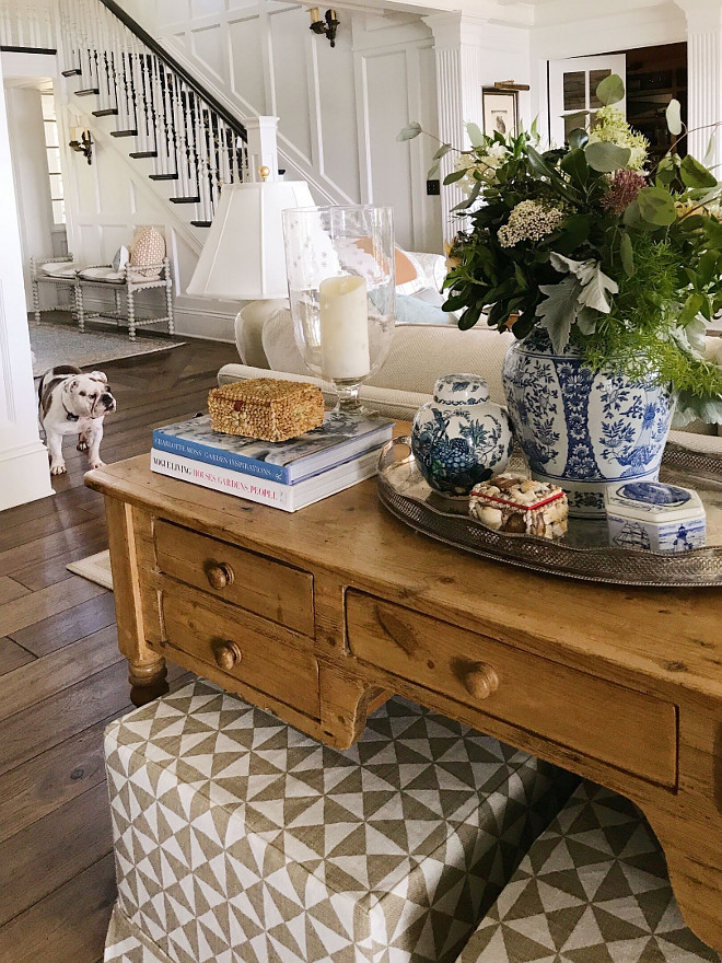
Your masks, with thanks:
[{"label": "small round lidded blue-and-white ginger jar beside the large flower vase", "polygon": [[477,374],[445,374],[433,401],[416,414],[411,451],[421,474],[444,495],[468,495],[506,467],[513,438],[509,416],[489,401],[486,381]]}]

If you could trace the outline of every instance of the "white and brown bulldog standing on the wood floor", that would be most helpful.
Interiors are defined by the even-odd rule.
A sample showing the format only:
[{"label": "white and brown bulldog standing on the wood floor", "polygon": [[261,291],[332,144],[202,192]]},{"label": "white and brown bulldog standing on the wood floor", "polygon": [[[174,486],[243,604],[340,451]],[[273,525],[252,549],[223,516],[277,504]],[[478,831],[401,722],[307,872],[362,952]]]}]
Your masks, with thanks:
[{"label": "white and brown bulldog standing on the wood floor", "polygon": [[115,398],[102,371],[83,373],[60,364],[46,371],[38,386],[39,419],[50,454],[50,474],[62,475],[62,439],[78,436],[78,451],[88,452],[91,468],[102,468],[103,418],[115,411]]}]

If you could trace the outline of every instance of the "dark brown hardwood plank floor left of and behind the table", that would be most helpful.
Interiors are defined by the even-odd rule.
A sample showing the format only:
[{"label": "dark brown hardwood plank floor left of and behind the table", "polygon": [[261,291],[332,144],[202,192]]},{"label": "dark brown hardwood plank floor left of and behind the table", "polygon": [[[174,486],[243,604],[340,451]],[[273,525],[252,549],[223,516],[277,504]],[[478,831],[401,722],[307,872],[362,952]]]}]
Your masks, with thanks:
[{"label": "dark brown hardwood plank floor left of and behind the table", "polygon": [[[153,426],[206,408],[235,358],[191,341],[102,366],[118,402],[104,461],[149,451]],[[71,442],[57,495],[0,513],[0,963],[97,963],[115,898],[103,730],[131,707],[113,595],[66,569],[107,547]]]}]

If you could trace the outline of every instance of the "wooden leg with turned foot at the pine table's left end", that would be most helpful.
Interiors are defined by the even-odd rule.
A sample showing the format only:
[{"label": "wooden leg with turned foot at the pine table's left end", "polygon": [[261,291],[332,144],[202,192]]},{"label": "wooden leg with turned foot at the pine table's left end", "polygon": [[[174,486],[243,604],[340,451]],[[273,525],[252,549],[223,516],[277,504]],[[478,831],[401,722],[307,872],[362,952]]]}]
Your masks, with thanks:
[{"label": "wooden leg with turned foot at the pine table's left end", "polygon": [[145,641],[132,507],[115,498],[106,498],[105,514],[110,543],[118,648],[128,660],[130,700],[135,706],[143,706],[168,691],[165,659]]}]

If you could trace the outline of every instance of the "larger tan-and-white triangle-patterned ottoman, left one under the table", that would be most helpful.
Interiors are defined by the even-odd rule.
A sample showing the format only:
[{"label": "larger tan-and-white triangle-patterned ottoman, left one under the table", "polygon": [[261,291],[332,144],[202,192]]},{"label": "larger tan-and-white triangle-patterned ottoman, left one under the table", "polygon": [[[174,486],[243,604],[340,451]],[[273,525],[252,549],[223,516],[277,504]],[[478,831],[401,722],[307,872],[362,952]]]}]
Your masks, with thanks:
[{"label": "larger tan-and-white triangle-patterned ottoman, left one under the table", "polygon": [[572,788],[403,699],[341,752],[203,681],[105,751],[116,937],[174,963],[452,963]]}]

